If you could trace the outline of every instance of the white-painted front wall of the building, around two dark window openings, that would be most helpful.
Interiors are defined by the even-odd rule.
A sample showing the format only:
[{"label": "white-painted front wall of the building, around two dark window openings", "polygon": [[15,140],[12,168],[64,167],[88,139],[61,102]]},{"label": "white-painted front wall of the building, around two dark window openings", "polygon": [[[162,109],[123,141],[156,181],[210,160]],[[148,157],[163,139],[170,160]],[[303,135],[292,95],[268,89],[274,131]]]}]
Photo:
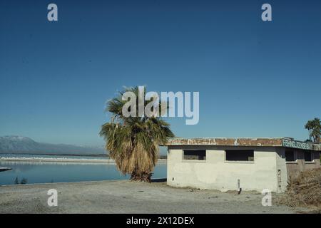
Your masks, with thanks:
[{"label": "white-painted front wall of the building, around two dark window openings", "polygon": [[[254,150],[254,162],[225,161],[225,150],[235,149]],[[206,160],[183,160],[183,150],[206,150]],[[173,187],[225,192],[237,190],[240,180],[242,190],[282,192],[283,188],[277,187],[276,150],[275,147],[169,146],[167,183]],[[286,167],[285,173],[282,171],[282,179],[286,182]]]}]

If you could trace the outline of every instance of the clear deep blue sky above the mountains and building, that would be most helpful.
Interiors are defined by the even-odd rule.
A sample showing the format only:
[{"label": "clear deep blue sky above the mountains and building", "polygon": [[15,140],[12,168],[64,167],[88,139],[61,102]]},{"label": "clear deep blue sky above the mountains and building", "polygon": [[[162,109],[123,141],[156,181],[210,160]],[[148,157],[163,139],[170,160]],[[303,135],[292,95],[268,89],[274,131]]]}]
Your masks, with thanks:
[{"label": "clear deep blue sky above the mountains and building", "polygon": [[0,135],[103,145],[123,86],[198,91],[181,137],[305,140],[321,114],[321,1],[1,0],[0,28]]}]

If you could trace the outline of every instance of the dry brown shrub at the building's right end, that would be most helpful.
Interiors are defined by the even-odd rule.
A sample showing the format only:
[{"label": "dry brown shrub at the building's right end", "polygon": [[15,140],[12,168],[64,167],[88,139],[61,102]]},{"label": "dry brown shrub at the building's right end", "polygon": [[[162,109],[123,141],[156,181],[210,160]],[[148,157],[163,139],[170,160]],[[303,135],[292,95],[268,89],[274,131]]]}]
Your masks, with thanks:
[{"label": "dry brown shrub at the building's right end", "polygon": [[321,208],[321,168],[301,172],[290,179],[280,203],[290,207]]}]

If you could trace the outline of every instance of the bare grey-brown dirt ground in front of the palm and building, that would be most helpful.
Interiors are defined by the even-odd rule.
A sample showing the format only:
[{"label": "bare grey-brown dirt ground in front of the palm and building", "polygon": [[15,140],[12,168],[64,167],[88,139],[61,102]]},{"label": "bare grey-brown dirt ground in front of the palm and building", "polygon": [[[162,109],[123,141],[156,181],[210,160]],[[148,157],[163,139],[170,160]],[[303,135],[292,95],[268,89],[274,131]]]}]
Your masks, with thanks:
[{"label": "bare grey-brown dirt ground in front of the palm and building", "polygon": [[[58,192],[49,207],[48,190]],[[277,205],[263,207],[259,192],[219,192],[168,187],[128,180],[0,186],[0,213],[296,213]]]}]

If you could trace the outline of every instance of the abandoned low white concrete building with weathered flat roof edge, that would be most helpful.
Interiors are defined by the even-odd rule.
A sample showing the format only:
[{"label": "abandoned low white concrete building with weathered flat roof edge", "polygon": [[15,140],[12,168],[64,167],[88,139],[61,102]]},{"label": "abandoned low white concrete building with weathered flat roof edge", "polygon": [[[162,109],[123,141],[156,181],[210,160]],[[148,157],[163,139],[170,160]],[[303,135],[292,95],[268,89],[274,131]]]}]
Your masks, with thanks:
[{"label": "abandoned low white concrete building with weathered flat roof edge", "polygon": [[320,167],[321,144],[292,138],[172,138],[167,146],[173,187],[284,192],[289,178]]}]

